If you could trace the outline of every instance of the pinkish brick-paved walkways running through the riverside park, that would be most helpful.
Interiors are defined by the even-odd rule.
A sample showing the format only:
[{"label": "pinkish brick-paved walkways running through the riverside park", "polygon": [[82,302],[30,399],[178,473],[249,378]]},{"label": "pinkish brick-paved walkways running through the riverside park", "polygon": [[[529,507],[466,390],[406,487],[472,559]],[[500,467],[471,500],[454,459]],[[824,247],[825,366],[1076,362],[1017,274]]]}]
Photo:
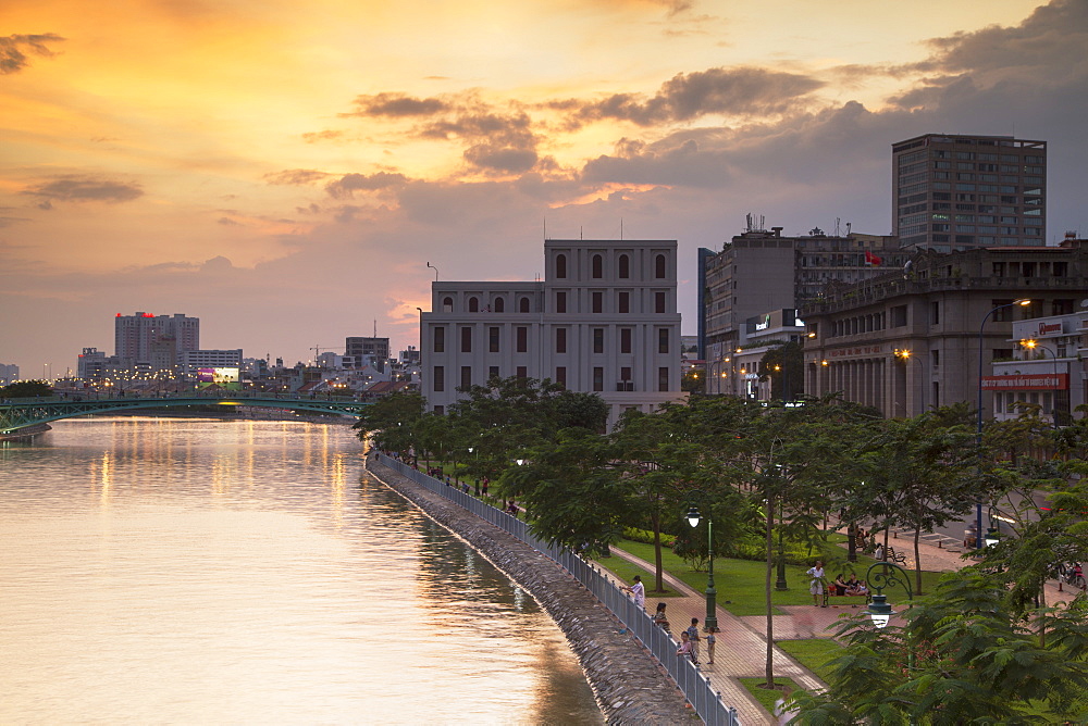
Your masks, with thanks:
[{"label": "pinkish brick-paved walkways running through the riverside park", "polygon": [[[906,555],[906,563],[903,568],[911,571],[914,567],[914,535],[913,533],[894,533],[894,537],[889,539],[889,543],[895,548],[897,553]],[[922,567],[928,571],[951,572],[963,567],[969,560],[962,559],[963,543],[941,535],[923,535],[918,543]],[[632,562],[646,572],[654,572],[654,565],[641,560],[629,552],[613,548],[613,554],[629,562]],[[598,563],[599,564],[599,563]],[[619,579],[608,573],[614,579]],[[908,572],[913,576],[913,572]],[[858,573],[862,576],[862,573]],[[706,616],[706,596],[688,587],[684,583],[668,573],[665,573],[665,581],[670,588],[681,593],[681,597],[663,599],[668,603],[669,622],[672,625],[673,635],[679,635],[680,630],[691,623],[692,617],[697,617],[702,627]],[[621,583],[628,585],[628,583]],[[913,587],[912,579],[912,587]],[[905,599],[905,593],[901,590],[897,593],[886,591],[889,600],[900,610],[901,601]],[[899,597],[895,597],[895,596]],[[1047,604],[1054,604],[1060,601],[1071,600],[1076,591],[1071,592],[1066,586],[1064,591],[1060,591],[1058,583],[1052,581],[1047,586]],[[646,605],[650,609],[656,606],[657,601],[647,593]],[[784,614],[775,615],[775,640],[795,640],[807,638],[831,638],[834,635],[834,624],[840,617],[855,615],[862,612],[865,605],[860,598],[844,598],[841,603],[834,599],[828,608],[814,608],[813,605],[786,605],[779,610]],[[727,705],[737,709],[741,723],[744,726],[752,724],[775,724],[763,706],[749,693],[738,680],[743,677],[764,676],[767,660],[766,641],[766,617],[737,616],[728,611],[718,608],[717,652],[715,653],[714,665],[707,663],[706,642],[700,643],[700,659],[703,662],[703,673],[710,679],[714,687],[721,692],[721,699]],[[790,658],[777,646],[774,649],[775,675],[792,678],[794,683],[805,689],[826,688],[827,685],[816,677],[814,673],[802,666]]]}]

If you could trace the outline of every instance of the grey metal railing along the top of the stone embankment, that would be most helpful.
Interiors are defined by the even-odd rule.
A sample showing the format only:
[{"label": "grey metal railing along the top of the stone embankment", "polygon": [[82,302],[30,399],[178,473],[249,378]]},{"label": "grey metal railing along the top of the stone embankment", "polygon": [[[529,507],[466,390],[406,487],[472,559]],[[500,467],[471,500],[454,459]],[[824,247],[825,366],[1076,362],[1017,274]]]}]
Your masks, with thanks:
[{"label": "grey metal railing along the top of the stone embankment", "polygon": [[628,593],[619,589],[599,569],[569,548],[543,541],[530,531],[528,523],[473,497],[463,491],[460,486],[447,485],[383,453],[378,453],[378,456],[381,463],[421,487],[445,497],[472,514],[514,535],[537,552],[547,555],[584,585],[605,608],[616,615],[623,627],[630,630],[631,635],[654,654],[654,658],[665,666],[704,723],[708,726],[740,726],[737,709],[726,706],[721,702],[721,692],[714,690],[714,686],[703,675],[698,666],[687,658],[677,656],[676,652],[680,644],[672,636],[656,625],[644,608],[635,604]]}]

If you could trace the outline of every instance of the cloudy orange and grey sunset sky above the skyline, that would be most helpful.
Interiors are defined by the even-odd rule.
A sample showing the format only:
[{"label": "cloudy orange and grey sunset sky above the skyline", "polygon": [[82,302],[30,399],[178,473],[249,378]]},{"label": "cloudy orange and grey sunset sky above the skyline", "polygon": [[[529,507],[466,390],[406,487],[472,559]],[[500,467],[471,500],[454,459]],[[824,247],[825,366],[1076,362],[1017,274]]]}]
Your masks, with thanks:
[{"label": "cloudy orange and grey sunset sky above the skyline", "polygon": [[[416,343],[442,279],[543,238],[695,251],[744,215],[891,229],[890,147],[1050,142],[1088,233],[1088,0],[0,0],[0,363],[113,352],[113,316],[306,361]],[[341,350],[341,352],[343,352]]]}]

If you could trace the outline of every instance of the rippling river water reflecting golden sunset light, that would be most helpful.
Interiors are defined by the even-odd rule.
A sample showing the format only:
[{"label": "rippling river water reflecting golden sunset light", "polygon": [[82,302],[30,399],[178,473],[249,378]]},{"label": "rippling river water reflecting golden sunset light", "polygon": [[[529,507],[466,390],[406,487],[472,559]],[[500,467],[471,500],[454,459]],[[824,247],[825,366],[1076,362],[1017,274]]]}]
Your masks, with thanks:
[{"label": "rippling river water reflecting golden sunset light", "polygon": [[346,426],[0,449],[0,723],[603,723],[562,634]]}]

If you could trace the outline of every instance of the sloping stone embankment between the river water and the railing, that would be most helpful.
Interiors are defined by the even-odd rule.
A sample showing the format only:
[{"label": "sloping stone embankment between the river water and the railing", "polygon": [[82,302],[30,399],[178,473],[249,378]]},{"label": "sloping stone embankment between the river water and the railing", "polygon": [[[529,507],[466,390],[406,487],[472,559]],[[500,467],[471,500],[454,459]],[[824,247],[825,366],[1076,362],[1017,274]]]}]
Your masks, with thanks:
[{"label": "sloping stone embankment between the river water and the railing", "polygon": [[367,456],[367,468],[526,589],[566,634],[610,724],[697,721],[683,694],[582,585],[521,540]]}]

